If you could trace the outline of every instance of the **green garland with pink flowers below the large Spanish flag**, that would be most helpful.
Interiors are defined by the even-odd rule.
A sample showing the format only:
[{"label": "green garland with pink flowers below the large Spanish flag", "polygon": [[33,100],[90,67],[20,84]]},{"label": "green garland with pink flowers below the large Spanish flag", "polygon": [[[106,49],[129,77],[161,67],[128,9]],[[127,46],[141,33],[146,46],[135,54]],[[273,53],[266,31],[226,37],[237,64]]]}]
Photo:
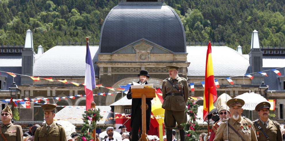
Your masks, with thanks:
[{"label": "green garland with pink flowers below the large Spanish flag", "polygon": [[193,103],[193,100],[187,101],[187,108],[185,109],[185,113],[190,116],[190,119],[187,123],[183,123],[185,130],[185,140],[187,141],[196,141],[197,140],[197,130],[199,130],[199,123],[196,121],[197,119],[197,112],[199,105]]}]

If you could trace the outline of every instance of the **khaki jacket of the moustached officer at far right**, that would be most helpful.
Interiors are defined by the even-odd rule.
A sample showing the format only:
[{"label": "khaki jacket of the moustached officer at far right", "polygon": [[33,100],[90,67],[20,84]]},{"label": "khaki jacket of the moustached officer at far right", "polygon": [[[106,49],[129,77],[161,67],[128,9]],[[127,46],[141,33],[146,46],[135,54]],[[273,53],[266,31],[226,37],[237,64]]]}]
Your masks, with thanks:
[{"label": "khaki jacket of the moustached officer at far right", "polygon": [[256,136],[258,135],[257,140],[266,141],[267,138],[265,137],[265,135],[262,133],[262,131],[258,128],[258,126],[255,123],[259,124],[259,126],[263,129],[263,131],[269,137],[270,141],[282,141],[282,133],[281,133],[280,125],[278,122],[272,121],[269,119],[268,125],[267,125],[267,130],[265,129],[265,127],[262,124],[262,122],[260,121],[260,119],[253,121],[252,123],[253,123],[255,131],[256,131]]}]

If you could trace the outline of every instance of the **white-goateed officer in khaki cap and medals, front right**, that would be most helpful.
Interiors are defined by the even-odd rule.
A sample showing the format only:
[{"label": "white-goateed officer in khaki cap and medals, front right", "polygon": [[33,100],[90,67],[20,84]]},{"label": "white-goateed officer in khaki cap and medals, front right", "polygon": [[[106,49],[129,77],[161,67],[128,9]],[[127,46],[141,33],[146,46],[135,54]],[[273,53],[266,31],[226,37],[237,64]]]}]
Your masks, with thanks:
[{"label": "white-goateed officer in khaki cap and medals, front right", "polygon": [[227,101],[227,106],[230,107],[231,117],[223,120],[218,128],[214,141],[257,141],[252,122],[247,118],[241,117],[243,105],[244,101],[239,98],[232,98]]}]

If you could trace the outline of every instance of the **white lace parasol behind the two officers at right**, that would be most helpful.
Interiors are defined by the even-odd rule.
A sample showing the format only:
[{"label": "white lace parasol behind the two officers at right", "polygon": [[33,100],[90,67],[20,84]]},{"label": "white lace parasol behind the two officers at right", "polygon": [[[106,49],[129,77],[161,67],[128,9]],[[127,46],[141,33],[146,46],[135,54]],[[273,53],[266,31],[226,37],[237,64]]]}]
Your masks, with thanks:
[{"label": "white lace parasol behind the two officers at right", "polygon": [[236,96],[235,98],[240,98],[244,100],[244,106],[242,106],[242,109],[244,110],[255,110],[255,106],[261,102],[267,101],[263,96],[260,94],[256,94],[254,92],[251,93],[244,93],[239,96]]}]

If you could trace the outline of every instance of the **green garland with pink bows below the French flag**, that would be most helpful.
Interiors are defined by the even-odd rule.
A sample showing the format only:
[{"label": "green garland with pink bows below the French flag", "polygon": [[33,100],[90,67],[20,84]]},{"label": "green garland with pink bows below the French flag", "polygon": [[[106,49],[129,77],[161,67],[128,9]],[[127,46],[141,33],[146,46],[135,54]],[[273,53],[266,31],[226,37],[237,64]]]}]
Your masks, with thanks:
[{"label": "green garland with pink bows below the French flag", "polygon": [[[95,109],[95,110],[88,109],[87,111],[84,111],[84,114],[82,114],[82,116],[83,116],[84,124],[81,128],[81,134],[78,137],[78,139],[80,141],[85,141],[84,139],[82,139],[82,137],[83,138],[85,137],[87,141],[93,140],[92,133],[93,133],[93,130],[96,129],[96,122],[103,118],[100,115],[100,109]],[[88,120],[89,120],[88,116],[91,119],[95,117],[95,121],[92,121],[91,125],[89,125],[88,123]],[[88,129],[89,129],[89,132],[88,132]]]}]

